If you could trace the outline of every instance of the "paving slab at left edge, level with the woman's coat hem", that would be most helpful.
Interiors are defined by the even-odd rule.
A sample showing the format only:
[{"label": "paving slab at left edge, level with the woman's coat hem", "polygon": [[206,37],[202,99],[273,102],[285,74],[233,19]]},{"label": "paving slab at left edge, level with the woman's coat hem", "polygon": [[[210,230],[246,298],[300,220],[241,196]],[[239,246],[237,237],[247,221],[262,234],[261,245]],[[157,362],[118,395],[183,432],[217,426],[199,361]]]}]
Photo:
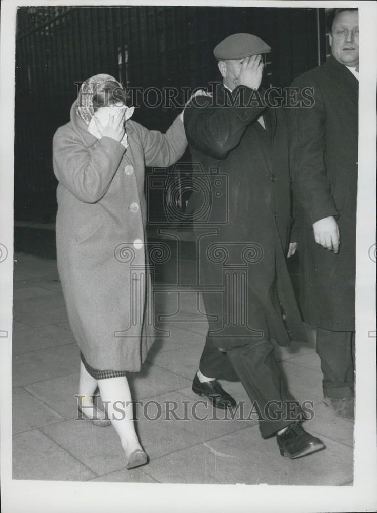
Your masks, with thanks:
[{"label": "paving slab at left edge, level with the woman's coat hem", "polygon": [[66,344],[13,357],[13,386],[25,386],[78,372],[80,351]]}]

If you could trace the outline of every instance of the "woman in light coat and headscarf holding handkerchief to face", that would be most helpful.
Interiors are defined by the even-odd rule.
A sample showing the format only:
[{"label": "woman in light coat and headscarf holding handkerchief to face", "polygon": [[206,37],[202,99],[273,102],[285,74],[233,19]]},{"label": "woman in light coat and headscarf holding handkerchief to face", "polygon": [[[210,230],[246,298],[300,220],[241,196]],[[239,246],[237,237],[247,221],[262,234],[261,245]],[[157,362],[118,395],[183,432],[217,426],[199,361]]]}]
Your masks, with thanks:
[{"label": "woman in light coat and headscarf holding handkerchief to face", "polygon": [[[53,139],[57,265],[81,351],[79,410],[96,425],[111,422],[127,468],[148,460],[126,377],[140,370],[155,334],[147,322],[144,168],[172,165],[187,146],[182,114],[162,134],[131,121],[132,113],[121,84],[95,75],[81,86],[70,121]],[[110,420],[93,403],[97,386]]]}]

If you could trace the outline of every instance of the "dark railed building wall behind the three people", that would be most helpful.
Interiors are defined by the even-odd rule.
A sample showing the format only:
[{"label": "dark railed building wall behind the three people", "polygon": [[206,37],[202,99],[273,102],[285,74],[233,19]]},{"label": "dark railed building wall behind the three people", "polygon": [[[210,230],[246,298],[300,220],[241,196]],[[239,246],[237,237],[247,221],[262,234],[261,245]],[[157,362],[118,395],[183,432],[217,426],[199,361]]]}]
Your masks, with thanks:
[{"label": "dark railed building wall behind the three people", "polygon": [[[320,24],[318,25],[318,18]],[[24,7],[18,9],[15,108],[15,215],[56,211],[52,136],[69,120],[77,85],[100,72],[125,87],[206,86],[218,76],[214,46],[234,32],[271,47],[274,86],[325,59],[323,9],[231,7]],[[127,58],[128,57],[128,58]],[[127,62],[126,62],[127,60]],[[153,93],[151,93],[153,97]],[[178,97],[182,101],[183,92]],[[134,119],[165,131],[180,109],[141,104]],[[184,156],[188,159],[189,154]]]}]

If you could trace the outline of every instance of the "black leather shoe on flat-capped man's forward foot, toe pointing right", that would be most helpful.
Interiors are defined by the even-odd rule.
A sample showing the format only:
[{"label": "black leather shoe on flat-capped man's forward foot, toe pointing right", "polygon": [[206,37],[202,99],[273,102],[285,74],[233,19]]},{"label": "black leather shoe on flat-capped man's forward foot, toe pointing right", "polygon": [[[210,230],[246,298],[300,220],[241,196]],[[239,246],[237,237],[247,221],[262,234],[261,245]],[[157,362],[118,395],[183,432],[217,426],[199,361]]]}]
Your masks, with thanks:
[{"label": "black leather shoe on flat-capped man's forward foot, toe pointing right", "polygon": [[300,458],[325,448],[325,444],[319,438],[309,435],[299,424],[290,424],[276,438],[281,455],[291,459]]}]

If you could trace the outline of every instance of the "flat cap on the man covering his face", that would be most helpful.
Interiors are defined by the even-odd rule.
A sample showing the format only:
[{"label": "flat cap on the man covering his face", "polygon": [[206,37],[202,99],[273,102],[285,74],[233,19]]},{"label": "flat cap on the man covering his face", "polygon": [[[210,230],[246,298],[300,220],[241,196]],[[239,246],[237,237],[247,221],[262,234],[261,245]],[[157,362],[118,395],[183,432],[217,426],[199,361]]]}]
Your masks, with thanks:
[{"label": "flat cap on the man covering his face", "polygon": [[271,47],[260,37],[251,34],[233,34],[221,41],[213,50],[217,61],[243,59],[250,55],[268,53]]}]

